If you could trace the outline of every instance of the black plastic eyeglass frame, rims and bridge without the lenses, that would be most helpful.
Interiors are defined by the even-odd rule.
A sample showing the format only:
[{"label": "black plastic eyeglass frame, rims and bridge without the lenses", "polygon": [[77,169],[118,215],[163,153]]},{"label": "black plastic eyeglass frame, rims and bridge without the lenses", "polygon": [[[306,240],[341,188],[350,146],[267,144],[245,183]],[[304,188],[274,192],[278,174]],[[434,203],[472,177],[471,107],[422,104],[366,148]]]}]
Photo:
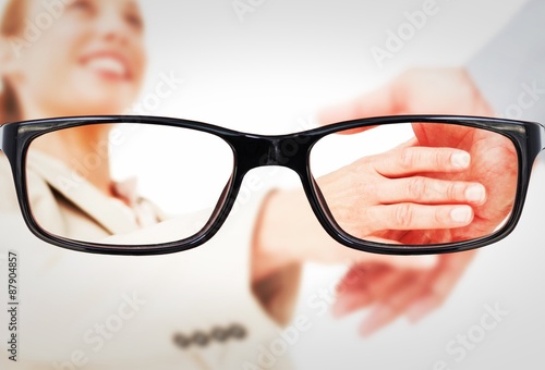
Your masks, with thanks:
[{"label": "black plastic eyeglass frame, rims and bridge without the lenses", "polygon": [[[311,173],[310,153],[323,137],[335,133],[376,125],[400,123],[443,123],[487,130],[508,137],[518,153],[518,185],[513,209],[509,220],[494,234],[471,240],[431,245],[387,245],[367,242],[347,234],[335,222],[326,201]],[[233,150],[232,175],[209,221],[195,235],[175,242],[156,245],[108,245],[63,238],[43,230],[34,219],[26,192],[26,153],[31,143],[47,133],[95,124],[156,124],[196,130],[220,137]],[[318,128],[287,135],[257,135],[237,132],[211,124],[182,119],[135,115],[73,116],[7,123],[0,126],[0,149],[11,164],[15,189],[23,218],[28,229],[40,239],[58,247],[102,255],[164,255],[195,248],[209,240],[226,221],[244,175],[258,166],[280,165],[295,171],[311,207],[326,232],[340,244],[362,251],[385,255],[447,254],[480,248],[509,235],[522,213],[528,193],[532,165],[545,149],[545,127],[536,122],[493,119],[468,115],[393,115],[340,122]],[[362,195],[364,196],[364,195]]]}]

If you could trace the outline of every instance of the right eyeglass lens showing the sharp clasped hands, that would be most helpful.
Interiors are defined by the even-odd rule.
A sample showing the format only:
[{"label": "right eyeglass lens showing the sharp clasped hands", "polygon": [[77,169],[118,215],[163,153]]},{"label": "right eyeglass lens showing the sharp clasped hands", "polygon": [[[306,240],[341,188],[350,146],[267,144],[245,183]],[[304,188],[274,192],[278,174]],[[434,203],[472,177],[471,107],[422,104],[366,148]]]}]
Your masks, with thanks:
[{"label": "right eyeglass lens showing the sharp clasped hands", "polygon": [[402,123],[324,137],[311,170],[344,233],[417,246],[498,231],[513,209],[517,156],[512,141],[492,131]]}]

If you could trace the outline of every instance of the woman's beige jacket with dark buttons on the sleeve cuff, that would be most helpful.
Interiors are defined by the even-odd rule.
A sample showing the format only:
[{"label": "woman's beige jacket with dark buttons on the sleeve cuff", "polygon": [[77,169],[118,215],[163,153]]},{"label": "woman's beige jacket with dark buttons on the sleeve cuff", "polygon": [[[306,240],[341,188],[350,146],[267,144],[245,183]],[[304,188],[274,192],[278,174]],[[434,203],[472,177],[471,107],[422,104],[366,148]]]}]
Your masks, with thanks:
[{"label": "woman's beige jacket with dark buttons on the sleeve cuff", "polygon": [[[70,170],[45,155],[33,155],[27,165],[31,181],[39,184],[31,195],[34,213],[56,234],[145,243],[179,233],[175,219],[167,220],[154,205],[136,197],[134,183],[116,185],[122,201],[83,180],[70,186]],[[255,369],[264,348],[280,337],[279,324],[291,318],[299,267],[257,286],[250,283],[253,229],[265,194],[253,197],[211,240],[192,250],[97,256],[37,239],[22,221],[3,155],[0,178],[4,240],[0,252],[19,250],[24,276],[20,332],[24,345],[17,369],[53,369],[55,363],[75,363],[74,358],[86,360],[85,369],[100,370]],[[129,313],[128,299],[133,298],[141,305],[133,304],[134,314],[119,321],[120,312]],[[97,330],[112,323],[118,325],[110,329],[119,330],[107,336]],[[217,335],[233,328],[243,335]],[[5,330],[0,326],[0,336],[7,337]],[[189,345],[181,345],[185,342],[180,338],[189,338]],[[274,360],[276,369],[291,369],[288,354]],[[5,361],[0,356],[0,368],[12,365]]]}]

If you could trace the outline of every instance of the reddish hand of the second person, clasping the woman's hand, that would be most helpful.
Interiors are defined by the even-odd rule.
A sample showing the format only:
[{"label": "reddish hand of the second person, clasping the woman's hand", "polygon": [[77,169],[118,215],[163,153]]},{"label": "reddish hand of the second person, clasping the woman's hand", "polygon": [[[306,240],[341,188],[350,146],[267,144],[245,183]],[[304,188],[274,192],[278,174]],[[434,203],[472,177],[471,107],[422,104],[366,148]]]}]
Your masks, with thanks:
[{"label": "reddish hand of the second person, clasping the woman's hand", "polygon": [[[493,112],[473,82],[461,69],[409,71],[392,83],[347,104],[320,114],[323,124],[365,116],[398,114],[492,115]],[[449,231],[413,231],[400,235],[401,243],[425,237],[425,243],[468,239],[494,231],[512,206],[509,178],[517,175],[516,152],[507,139],[483,131],[460,126],[413,124],[415,146],[449,147],[470,153],[468,171],[434,173],[443,181],[481,183],[489,197],[473,207],[473,222]],[[514,158],[514,160],[513,160]],[[506,163],[513,163],[512,166]],[[421,173],[420,175],[429,175]],[[510,186],[505,186],[505,181]],[[439,307],[474,257],[474,251],[441,255],[432,270],[413,270],[384,262],[356,263],[339,285],[334,311],[337,316],[371,308],[361,333],[368,335],[402,314],[420,320]]]}]

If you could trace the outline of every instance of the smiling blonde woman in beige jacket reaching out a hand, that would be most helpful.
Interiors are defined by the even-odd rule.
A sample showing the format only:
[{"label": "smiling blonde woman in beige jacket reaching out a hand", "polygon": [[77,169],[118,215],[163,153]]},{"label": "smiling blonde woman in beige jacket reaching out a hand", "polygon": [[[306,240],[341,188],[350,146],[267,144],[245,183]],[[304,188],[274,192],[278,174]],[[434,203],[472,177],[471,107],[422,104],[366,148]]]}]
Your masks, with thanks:
[{"label": "smiling blonde woman in beige jacket reaching out a hand", "polygon": [[[121,113],[136,98],[146,64],[144,22],[137,2],[70,1],[63,16],[38,40],[16,44],[23,40],[24,20],[35,18],[43,11],[40,3],[13,0],[7,8],[2,23],[1,121]],[[77,161],[93,150],[89,143],[104,140],[106,135],[102,130],[89,130],[56,138],[62,145],[44,144],[39,149],[45,157],[35,165],[38,181],[50,190],[51,184],[40,169],[58,162],[70,165],[73,159]],[[469,166],[467,152],[447,150],[438,168],[437,161],[434,165],[426,161],[437,158],[435,150],[413,146],[368,157],[352,165],[365,170],[361,183],[373,181],[378,186],[389,182],[388,176],[380,175],[380,163],[389,165],[389,177],[403,177],[407,170],[396,164],[408,152],[424,153],[414,156],[417,160],[411,162],[420,172],[462,171]],[[455,169],[457,164],[460,165]],[[85,177],[96,195],[94,199],[99,199],[104,207],[122,208],[130,218],[138,220],[134,214],[138,214],[140,206],[130,201],[132,193],[123,190],[123,184],[111,180],[109,165],[109,161],[101,161]],[[213,240],[177,256],[121,259],[66,252],[44,246],[25,232],[16,217],[19,209],[4,160],[1,171],[5,178],[1,192],[7,195],[2,197],[5,199],[1,206],[2,225],[13,227],[11,243],[14,248],[24,246],[26,266],[32,267],[25,270],[27,313],[22,317],[21,332],[26,349],[20,363],[26,368],[239,369],[241,363],[252,368],[272,361],[279,368],[287,368],[286,356],[271,356],[268,345],[278,338],[278,324],[291,319],[303,261],[374,261],[405,268],[429,264],[426,259],[372,256],[337,245],[317,224],[299,190],[255,197]],[[320,185],[337,194],[338,178],[339,173],[332,173],[323,177]],[[467,192],[475,186],[476,192]],[[479,186],[476,182],[462,181],[441,187],[441,200],[453,197],[464,203],[461,209],[458,207],[460,212],[457,218],[446,212],[441,227],[445,223],[453,226],[471,223],[472,206],[483,205],[486,199],[484,188]],[[456,194],[449,193],[455,187]],[[405,188],[399,186],[387,196],[399,198]],[[57,201],[50,196],[46,198]],[[76,213],[84,226],[78,223],[76,227],[95,225],[80,199],[88,199],[88,193],[66,202],[80,206]],[[388,201],[372,199],[365,206]],[[74,215],[64,206],[49,202],[43,212],[51,212],[53,207],[58,219],[52,222],[64,227]],[[351,209],[343,214],[353,219],[350,213],[355,211]],[[161,221],[159,213],[147,212],[155,218],[152,223]],[[372,221],[379,224],[382,218],[389,215],[379,212]],[[365,233],[373,236],[378,229],[371,227]],[[391,234],[379,236],[388,238]],[[66,297],[72,293],[65,291],[66,284],[59,283],[61,276],[74,281],[75,300]],[[229,276],[227,282],[226,276]],[[70,330],[63,323],[69,323]],[[62,334],[51,336],[60,325]],[[43,330],[37,332],[37,328]],[[304,328],[307,324],[301,323],[300,330]]]}]

